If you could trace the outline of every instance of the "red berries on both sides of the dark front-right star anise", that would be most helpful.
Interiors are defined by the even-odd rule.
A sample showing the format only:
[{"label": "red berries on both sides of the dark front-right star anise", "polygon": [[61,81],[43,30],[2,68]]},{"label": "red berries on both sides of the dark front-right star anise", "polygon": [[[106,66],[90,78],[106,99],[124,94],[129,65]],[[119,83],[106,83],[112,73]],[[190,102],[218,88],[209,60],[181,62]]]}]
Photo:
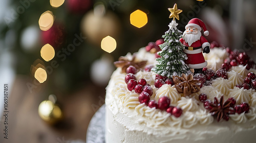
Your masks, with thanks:
[{"label": "red berries on both sides of the dark front-right star anise", "polygon": [[[201,93],[199,95],[199,100],[204,104],[204,108],[207,110],[211,110],[212,107],[211,105],[214,105],[210,100],[207,99],[207,95],[205,93]],[[227,99],[227,101],[231,101],[231,103],[229,104],[229,109],[227,114],[234,114],[234,113],[238,113],[241,114],[243,112],[248,113],[250,107],[249,104],[246,102],[243,102],[239,105],[236,105],[237,101],[234,98],[229,98]],[[220,106],[220,105],[214,105],[214,106]],[[221,107],[219,107],[221,108]],[[224,116],[223,117],[226,121],[228,121],[229,117],[228,116]]]}]

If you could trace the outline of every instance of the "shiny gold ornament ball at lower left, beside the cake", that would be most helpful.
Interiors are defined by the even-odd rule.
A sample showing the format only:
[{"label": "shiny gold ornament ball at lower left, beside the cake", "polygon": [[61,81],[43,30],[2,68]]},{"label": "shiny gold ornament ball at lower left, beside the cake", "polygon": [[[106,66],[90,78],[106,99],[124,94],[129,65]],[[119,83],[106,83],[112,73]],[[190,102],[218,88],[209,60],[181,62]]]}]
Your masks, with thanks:
[{"label": "shiny gold ornament ball at lower left, beside the cake", "polygon": [[63,117],[63,113],[59,106],[49,100],[42,101],[39,104],[38,114],[42,118],[42,120],[50,125],[59,122]]}]

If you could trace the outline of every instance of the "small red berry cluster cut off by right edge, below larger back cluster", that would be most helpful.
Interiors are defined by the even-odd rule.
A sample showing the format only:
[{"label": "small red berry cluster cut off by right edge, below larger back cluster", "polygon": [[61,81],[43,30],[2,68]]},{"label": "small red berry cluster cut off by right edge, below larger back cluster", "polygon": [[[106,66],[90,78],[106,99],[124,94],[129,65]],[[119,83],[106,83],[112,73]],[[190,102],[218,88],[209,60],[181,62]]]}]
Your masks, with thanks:
[{"label": "small red berry cluster cut off by right edge, below larger back cluster", "polygon": [[254,73],[250,72],[247,74],[247,76],[244,79],[244,83],[242,84],[237,84],[236,87],[242,88],[244,87],[244,89],[256,89],[256,76]]}]

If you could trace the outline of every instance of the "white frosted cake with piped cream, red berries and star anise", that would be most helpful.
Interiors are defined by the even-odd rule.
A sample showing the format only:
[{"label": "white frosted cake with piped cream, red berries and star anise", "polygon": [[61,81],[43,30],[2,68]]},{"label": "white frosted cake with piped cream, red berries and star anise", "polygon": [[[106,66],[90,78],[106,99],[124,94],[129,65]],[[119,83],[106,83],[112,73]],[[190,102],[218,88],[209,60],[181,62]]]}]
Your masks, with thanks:
[{"label": "white frosted cake with piped cream, red berries and star anise", "polygon": [[[208,69],[203,69],[204,74],[194,75],[200,90],[186,96],[177,90],[175,78],[165,78],[160,84],[156,82],[164,77],[151,71],[157,63],[156,54],[148,51],[143,47],[133,55],[121,57],[120,61],[126,62],[119,62],[120,67],[106,87],[106,143],[256,142],[254,63],[249,68],[249,63],[230,63],[228,60],[239,53],[215,47],[204,54]],[[129,65],[139,66],[136,70],[127,69]],[[127,74],[127,70],[132,74]],[[210,75],[212,71],[214,74]],[[189,78],[188,75],[184,77]],[[193,75],[190,78],[193,79]],[[140,85],[134,87],[131,80]],[[146,92],[150,101],[140,99],[142,93],[147,94],[145,86],[149,88]]]}]

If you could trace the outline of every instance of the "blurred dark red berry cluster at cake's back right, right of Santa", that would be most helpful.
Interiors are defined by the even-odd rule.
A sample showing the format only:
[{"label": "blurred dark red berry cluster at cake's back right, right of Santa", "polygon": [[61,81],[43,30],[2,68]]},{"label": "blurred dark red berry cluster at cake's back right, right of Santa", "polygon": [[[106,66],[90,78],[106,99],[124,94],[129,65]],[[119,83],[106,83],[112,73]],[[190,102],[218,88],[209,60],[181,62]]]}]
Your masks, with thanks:
[{"label": "blurred dark red berry cluster at cake's back right, right of Santa", "polygon": [[231,51],[229,47],[226,48],[226,51],[229,53],[229,56],[221,65],[222,69],[228,71],[232,66],[238,66],[239,64],[246,65],[246,69],[248,70],[255,67],[254,61],[245,52],[239,52],[238,50]]}]

